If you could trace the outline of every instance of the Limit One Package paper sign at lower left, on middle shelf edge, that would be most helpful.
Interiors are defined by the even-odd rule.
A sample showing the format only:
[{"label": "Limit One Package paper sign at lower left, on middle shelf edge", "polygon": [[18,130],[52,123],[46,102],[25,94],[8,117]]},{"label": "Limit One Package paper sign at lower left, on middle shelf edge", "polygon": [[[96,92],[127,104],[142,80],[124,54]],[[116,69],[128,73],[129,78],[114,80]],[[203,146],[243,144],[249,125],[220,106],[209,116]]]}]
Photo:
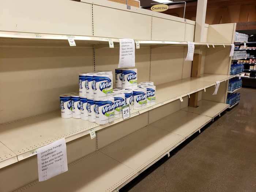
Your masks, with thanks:
[{"label": "Limit One Package paper sign at lower left, on middle shelf edge", "polygon": [[45,181],[68,170],[65,139],[37,150],[38,180]]}]

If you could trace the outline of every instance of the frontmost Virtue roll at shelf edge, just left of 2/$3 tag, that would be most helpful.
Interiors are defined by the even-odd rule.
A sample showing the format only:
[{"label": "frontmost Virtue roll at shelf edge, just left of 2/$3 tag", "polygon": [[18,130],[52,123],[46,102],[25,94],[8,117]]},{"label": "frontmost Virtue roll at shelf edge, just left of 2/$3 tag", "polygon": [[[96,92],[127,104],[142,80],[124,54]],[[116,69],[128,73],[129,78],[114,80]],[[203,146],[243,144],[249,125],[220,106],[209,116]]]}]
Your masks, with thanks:
[{"label": "frontmost Virtue roll at shelf edge, just left of 2/$3 tag", "polygon": [[110,97],[104,101],[95,101],[96,123],[107,124],[114,119],[114,98]]}]

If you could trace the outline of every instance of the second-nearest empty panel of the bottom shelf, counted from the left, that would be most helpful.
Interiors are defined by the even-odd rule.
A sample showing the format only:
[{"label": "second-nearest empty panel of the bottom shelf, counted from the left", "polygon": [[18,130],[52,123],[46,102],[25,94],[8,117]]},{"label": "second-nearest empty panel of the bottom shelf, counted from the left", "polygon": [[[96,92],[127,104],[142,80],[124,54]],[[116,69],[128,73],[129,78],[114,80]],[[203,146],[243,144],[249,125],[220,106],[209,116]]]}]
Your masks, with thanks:
[{"label": "second-nearest empty panel of the bottom shelf, counted from the left", "polygon": [[100,151],[140,173],[184,140],[180,135],[148,125]]}]

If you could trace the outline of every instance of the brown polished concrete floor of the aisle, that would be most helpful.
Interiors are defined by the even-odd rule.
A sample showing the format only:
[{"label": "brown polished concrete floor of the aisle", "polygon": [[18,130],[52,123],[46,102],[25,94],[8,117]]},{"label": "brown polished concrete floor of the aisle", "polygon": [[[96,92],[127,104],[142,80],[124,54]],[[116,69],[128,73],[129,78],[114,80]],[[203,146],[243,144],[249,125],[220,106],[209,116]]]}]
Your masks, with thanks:
[{"label": "brown polished concrete floor of the aisle", "polygon": [[120,191],[256,192],[256,89]]}]

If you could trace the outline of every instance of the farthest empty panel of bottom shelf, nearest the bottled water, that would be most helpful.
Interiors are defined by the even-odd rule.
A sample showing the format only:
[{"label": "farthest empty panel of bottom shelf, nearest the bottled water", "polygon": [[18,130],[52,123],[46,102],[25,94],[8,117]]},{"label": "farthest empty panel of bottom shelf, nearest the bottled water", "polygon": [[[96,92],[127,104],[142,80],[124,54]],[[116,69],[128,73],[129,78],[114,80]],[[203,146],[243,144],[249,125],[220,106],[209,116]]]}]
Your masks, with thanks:
[{"label": "farthest empty panel of bottom shelf, nearest the bottled water", "polygon": [[199,101],[198,105],[199,107],[197,108],[188,106],[181,110],[196,113],[196,114],[202,114],[202,115],[214,118],[229,107],[229,104],[226,104],[226,103],[218,103],[218,102],[207,101],[207,100]]}]

